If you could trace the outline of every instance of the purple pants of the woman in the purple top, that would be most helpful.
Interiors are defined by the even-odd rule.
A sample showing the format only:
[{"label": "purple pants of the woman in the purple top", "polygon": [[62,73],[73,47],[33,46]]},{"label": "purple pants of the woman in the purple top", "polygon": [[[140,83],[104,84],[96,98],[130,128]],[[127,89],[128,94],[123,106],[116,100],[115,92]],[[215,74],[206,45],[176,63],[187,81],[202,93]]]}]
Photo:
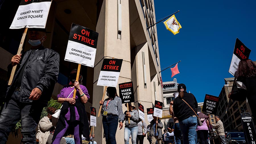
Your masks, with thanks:
[{"label": "purple pants of the woman in the purple top", "polygon": [[[66,127],[56,135],[56,138],[55,138],[55,140],[53,141],[52,144],[59,144],[60,143],[61,138],[64,136],[65,132],[69,128],[69,124],[67,123],[66,120],[65,120],[65,124],[66,124]],[[79,133],[79,125],[78,124],[75,124],[75,126],[74,126],[74,139],[75,139],[75,144],[80,144],[81,135]]]}]

